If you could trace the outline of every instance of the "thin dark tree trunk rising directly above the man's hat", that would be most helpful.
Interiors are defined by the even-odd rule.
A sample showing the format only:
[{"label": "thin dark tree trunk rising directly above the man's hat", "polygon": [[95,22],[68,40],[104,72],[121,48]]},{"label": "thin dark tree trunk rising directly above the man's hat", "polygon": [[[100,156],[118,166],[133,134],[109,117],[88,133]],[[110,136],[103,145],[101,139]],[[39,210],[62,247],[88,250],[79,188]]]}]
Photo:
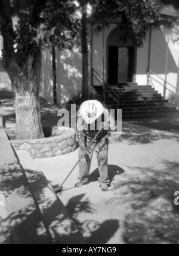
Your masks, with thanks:
[{"label": "thin dark tree trunk rising directly above the man's hat", "polygon": [[89,97],[87,4],[82,5],[82,100]]}]

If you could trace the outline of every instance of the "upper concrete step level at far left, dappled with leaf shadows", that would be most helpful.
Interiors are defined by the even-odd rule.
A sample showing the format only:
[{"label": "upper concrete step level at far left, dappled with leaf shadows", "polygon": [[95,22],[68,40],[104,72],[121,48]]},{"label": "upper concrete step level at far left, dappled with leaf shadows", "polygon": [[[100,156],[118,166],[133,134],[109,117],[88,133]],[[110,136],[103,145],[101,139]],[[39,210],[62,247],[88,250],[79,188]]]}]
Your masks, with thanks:
[{"label": "upper concrete step level at far left, dappled with leaf shadows", "polygon": [[3,128],[0,144],[0,243],[49,243],[26,177]]}]

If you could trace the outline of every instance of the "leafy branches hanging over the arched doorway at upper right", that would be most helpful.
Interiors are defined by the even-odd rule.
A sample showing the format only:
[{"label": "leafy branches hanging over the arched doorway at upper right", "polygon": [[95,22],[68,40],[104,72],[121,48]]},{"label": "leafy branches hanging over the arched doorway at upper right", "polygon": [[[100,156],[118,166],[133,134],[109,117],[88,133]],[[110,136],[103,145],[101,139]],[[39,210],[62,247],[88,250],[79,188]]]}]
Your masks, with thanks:
[{"label": "leafy branches hanging over the arched doorway at upper right", "polygon": [[[122,18],[121,26],[128,31],[128,36],[136,46],[141,46],[150,27],[160,25],[169,26],[174,21],[162,16],[161,9],[164,5],[172,4],[179,8],[175,0],[98,0],[94,4],[94,16],[107,25],[108,19]],[[99,30],[101,29],[98,26]],[[121,38],[124,39],[125,38]]]}]

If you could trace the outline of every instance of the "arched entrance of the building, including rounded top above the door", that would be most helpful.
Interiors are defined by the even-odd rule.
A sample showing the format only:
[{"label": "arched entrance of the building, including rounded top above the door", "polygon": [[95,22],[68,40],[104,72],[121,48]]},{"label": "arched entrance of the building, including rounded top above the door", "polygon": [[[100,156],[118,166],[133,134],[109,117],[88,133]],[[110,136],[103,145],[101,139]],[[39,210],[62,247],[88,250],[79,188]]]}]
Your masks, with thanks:
[{"label": "arched entrance of the building, including rounded top above the door", "polygon": [[107,38],[107,82],[132,82],[135,72],[136,48],[128,32],[117,27]]}]

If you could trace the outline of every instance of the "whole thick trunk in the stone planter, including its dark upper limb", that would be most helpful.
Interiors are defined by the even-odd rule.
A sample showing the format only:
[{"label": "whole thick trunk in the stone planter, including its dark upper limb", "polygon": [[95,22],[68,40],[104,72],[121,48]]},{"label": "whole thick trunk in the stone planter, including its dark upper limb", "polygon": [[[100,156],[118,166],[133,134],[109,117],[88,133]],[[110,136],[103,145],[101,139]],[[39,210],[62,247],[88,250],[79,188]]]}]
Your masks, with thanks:
[{"label": "whole thick trunk in the stone planter, including its dark upper limb", "polygon": [[[25,10],[27,1],[20,1],[20,10]],[[7,71],[14,94],[14,108],[16,112],[17,139],[44,137],[41,125],[39,107],[39,82],[41,76],[41,47],[34,47],[27,51],[32,42],[26,46],[23,53],[14,52],[14,24],[12,19],[11,1],[4,1],[1,19],[1,34],[4,37],[3,65]],[[21,17],[21,16],[19,16]],[[26,24],[20,19],[20,35],[24,33]],[[28,28],[28,25],[27,25]],[[27,38],[31,38],[31,36]],[[25,47],[26,46],[26,47]]]}]

